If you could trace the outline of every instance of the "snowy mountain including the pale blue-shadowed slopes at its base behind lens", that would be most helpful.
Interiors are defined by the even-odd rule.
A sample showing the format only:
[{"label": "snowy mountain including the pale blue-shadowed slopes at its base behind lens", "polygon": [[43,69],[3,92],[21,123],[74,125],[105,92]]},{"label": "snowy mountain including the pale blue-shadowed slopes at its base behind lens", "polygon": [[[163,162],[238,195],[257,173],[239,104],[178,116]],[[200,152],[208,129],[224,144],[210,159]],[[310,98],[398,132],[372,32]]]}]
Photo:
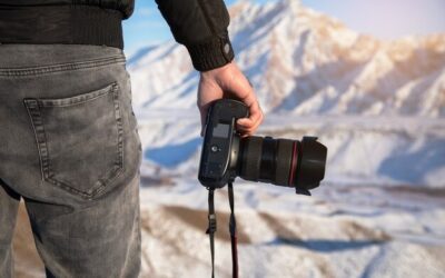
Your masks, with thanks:
[{"label": "snowy mountain including the pale blue-shadowed slopes at its base behind lens", "polygon": [[[445,187],[445,34],[380,41],[296,0],[230,8],[237,62],[267,112],[260,135],[319,137],[326,180]],[[169,41],[129,59],[150,175],[195,176],[198,73]]]}]

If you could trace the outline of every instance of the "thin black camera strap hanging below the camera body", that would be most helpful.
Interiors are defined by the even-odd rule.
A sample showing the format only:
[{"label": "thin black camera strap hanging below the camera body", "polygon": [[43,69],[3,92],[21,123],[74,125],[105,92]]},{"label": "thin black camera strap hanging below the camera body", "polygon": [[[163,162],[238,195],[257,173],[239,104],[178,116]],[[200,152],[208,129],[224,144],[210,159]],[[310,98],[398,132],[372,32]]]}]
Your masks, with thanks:
[{"label": "thin black camera strap hanging below the camera body", "polygon": [[[208,189],[208,205],[209,205],[209,226],[206,234],[209,235],[210,239],[210,254],[211,254],[211,278],[215,278],[215,232],[216,232],[216,215],[215,215],[215,189]],[[234,186],[231,181],[228,182],[228,196],[230,205],[230,244],[231,244],[231,274],[233,278],[238,278],[238,249],[237,249],[237,230],[236,230],[236,218],[235,218],[235,201],[234,201]]]}]

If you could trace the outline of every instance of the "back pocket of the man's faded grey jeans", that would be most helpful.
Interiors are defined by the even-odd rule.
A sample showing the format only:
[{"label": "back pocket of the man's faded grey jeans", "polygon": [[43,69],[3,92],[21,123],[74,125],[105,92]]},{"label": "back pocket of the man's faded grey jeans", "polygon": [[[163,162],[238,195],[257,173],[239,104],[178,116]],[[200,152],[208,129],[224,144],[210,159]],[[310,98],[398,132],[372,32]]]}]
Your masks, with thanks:
[{"label": "back pocket of the man's faded grey jeans", "polygon": [[123,170],[119,88],[61,99],[27,98],[43,180],[91,199]]}]

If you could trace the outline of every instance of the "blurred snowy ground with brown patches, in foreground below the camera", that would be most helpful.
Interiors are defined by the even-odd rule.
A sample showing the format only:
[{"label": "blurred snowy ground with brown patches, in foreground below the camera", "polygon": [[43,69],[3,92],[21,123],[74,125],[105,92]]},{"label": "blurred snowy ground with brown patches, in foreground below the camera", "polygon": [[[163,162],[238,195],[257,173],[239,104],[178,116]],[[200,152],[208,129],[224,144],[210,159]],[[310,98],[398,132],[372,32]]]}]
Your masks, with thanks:
[{"label": "blurred snowy ground with brown patches, in foreground below the camera", "polygon": [[[142,191],[144,271],[208,277],[206,190],[191,178],[177,182]],[[325,183],[301,197],[237,182],[240,277],[443,277],[444,193]],[[225,190],[216,208],[217,277],[230,277]]]}]

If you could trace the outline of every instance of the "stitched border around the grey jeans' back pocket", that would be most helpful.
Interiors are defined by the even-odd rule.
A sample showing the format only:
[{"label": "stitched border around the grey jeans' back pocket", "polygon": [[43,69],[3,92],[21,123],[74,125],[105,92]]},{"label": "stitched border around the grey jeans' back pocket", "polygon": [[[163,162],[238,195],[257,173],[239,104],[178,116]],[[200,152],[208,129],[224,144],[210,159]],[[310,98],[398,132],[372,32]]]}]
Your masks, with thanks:
[{"label": "stitched border around the grey jeans' back pocket", "polygon": [[[123,127],[122,127],[122,117],[120,112],[119,106],[119,86],[117,82],[113,82],[107,86],[103,89],[98,91],[85,93],[77,97],[70,97],[65,99],[33,99],[33,98],[26,98],[23,99],[23,103],[28,110],[28,115],[31,118],[32,128],[34,129],[34,136],[38,145],[39,150],[39,158],[41,165],[41,173],[42,178],[46,181],[51,182],[52,185],[63,188],[70,192],[80,195],[86,199],[91,199],[92,197],[97,196],[107,187],[107,183],[111,183],[116,178],[118,178],[123,172]],[[48,153],[48,146],[47,146],[47,136],[44,131],[44,125],[41,116],[40,108],[41,107],[66,107],[66,106],[73,106],[79,103],[85,103],[98,99],[99,97],[112,95],[113,108],[115,108],[115,120],[116,127],[118,131],[118,145],[117,145],[117,161],[116,166],[103,173],[101,177],[95,181],[95,185],[88,191],[78,190],[71,186],[70,182],[62,181],[60,179],[53,179],[55,176],[51,171],[51,163],[50,157]]]}]

